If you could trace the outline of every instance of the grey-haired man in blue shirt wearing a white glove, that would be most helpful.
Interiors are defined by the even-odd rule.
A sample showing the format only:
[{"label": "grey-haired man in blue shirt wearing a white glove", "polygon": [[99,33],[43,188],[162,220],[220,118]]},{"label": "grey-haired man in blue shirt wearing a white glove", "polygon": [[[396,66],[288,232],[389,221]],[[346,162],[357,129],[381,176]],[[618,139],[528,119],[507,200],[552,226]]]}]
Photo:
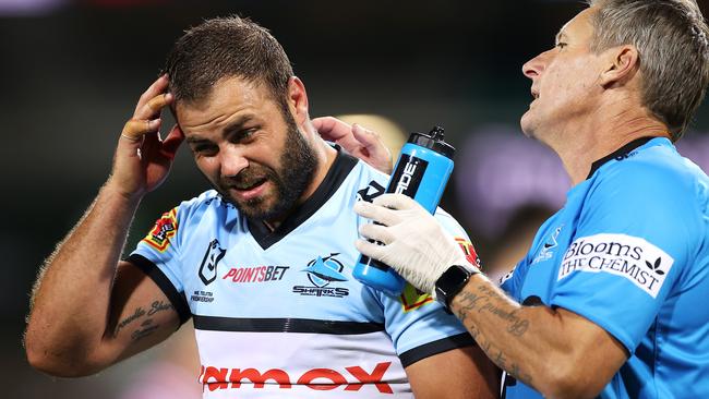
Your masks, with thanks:
[{"label": "grey-haired man in blue shirt wearing a white glove", "polygon": [[592,1],[522,66],[521,128],[574,186],[502,289],[413,201],[356,206],[385,243],[358,249],[435,292],[508,398],[709,397],[709,179],[673,146],[709,82],[708,39],[690,0]]}]

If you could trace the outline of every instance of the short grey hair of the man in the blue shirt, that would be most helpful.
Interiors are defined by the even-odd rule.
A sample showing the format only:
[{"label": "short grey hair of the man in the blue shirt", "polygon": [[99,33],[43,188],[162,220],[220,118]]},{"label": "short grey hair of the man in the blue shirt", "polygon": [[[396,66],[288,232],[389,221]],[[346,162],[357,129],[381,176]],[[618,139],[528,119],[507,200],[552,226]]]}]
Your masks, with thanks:
[{"label": "short grey hair of the man in the blue shirt", "polygon": [[633,45],[645,107],[677,141],[709,83],[709,28],[694,0],[587,0],[596,7],[591,51]]}]

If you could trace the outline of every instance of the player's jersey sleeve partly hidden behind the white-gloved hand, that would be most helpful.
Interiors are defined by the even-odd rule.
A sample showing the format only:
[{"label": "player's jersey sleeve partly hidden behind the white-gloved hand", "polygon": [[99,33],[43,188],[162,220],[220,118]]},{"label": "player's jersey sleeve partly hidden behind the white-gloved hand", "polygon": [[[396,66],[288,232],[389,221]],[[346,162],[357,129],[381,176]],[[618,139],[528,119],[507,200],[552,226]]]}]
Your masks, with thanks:
[{"label": "player's jersey sleeve partly hidden behind the white-gloved hand", "polygon": [[[470,254],[470,240],[458,222],[441,209],[436,219],[456,238],[461,251]],[[474,344],[455,316],[411,285],[407,283],[398,298],[380,291],[377,294],[384,305],[386,331],[405,367],[437,353]]]}]

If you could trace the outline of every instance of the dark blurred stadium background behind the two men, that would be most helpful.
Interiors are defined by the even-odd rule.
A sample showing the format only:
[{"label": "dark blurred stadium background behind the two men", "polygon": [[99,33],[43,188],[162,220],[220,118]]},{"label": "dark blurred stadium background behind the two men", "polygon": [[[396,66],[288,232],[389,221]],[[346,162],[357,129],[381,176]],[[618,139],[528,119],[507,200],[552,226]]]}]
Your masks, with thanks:
[{"label": "dark blurred stadium background behind the two men", "polygon": [[[709,12],[709,2],[700,7]],[[106,179],[124,120],[184,28],[231,13],[268,27],[305,83],[313,117],[378,116],[406,133],[443,125],[458,148],[443,205],[493,267],[512,265],[564,202],[561,164],[519,131],[531,98],[520,68],[581,8],[577,0],[0,0],[0,397],[155,399],[157,391],[131,389],[184,379],[169,367],[163,376],[171,378],[152,374],[156,359],[190,358],[177,343],[77,380],[34,372],[21,343],[38,266]],[[709,170],[705,132],[706,101],[680,147]],[[181,150],[168,182],[144,201],[129,247],[161,211],[206,188]],[[187,375],[193,380],[196,370]]]}]

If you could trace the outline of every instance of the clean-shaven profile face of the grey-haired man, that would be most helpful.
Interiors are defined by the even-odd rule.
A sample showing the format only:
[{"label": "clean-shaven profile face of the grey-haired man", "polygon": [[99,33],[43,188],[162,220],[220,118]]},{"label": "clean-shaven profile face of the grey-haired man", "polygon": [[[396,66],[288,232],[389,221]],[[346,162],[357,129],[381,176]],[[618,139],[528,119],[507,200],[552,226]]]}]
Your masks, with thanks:
[{"label": "clean-shaven profile face of the grey-haired man", "polygon": [[[541,141],[593,112],[600,59],[590,50],[594,8],[581,11],[556,35],[556,45],[522,65],[534,99],[521,118],[522,131]],[[567,137],[570,138],[570,137]]]}]

